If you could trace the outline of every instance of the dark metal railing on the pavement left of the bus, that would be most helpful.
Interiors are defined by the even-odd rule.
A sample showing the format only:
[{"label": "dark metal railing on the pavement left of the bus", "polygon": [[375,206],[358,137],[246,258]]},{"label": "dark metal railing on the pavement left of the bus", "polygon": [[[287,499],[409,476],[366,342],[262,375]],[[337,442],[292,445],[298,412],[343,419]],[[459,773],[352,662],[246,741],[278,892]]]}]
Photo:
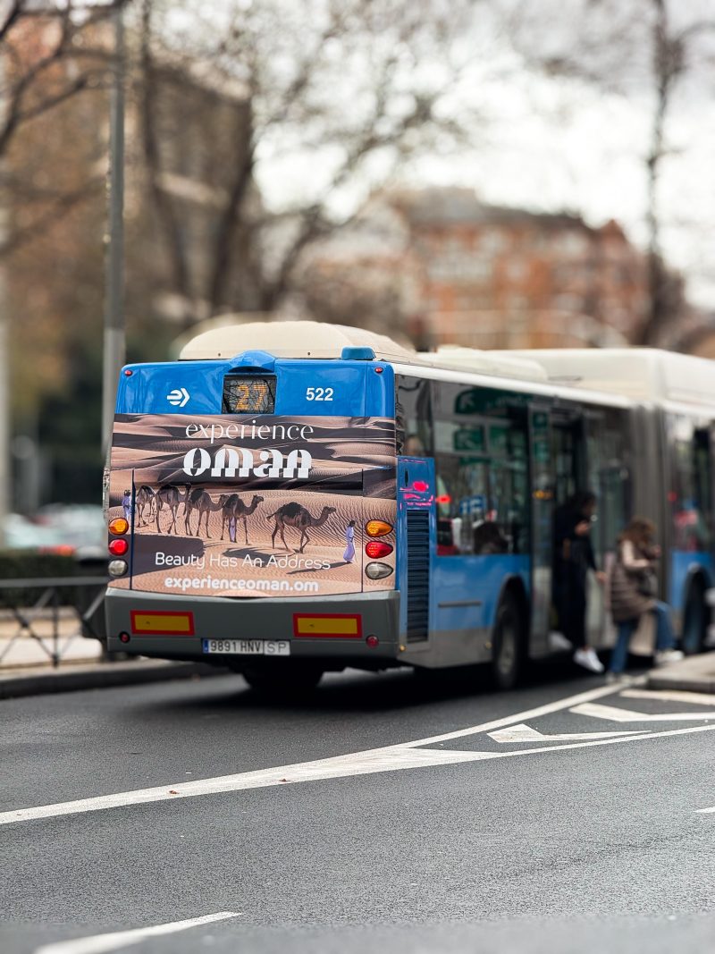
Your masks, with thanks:
[{"label": "dark metal railing on the pavement left of the bus", "polygon": [[[7,644],[0,651],[0,666],[3,660],[17,645],[19,640],[34,641],[43,653],[51,660],[53,667],[59,666],[72,642],[79,638],[90,637],[104,641],[103,626],[98,625],[97,616],[105,592],[107,591],[108,576],[57,576],[40,577],[37,579],[6,579],[0,580],[0,601],[5,606],[5,612],[10,616],[10,626],[14,632],[6,637]],[[62,599],[63,591],[76,591],[72,603]],[[11,596],[17,591],[18,596]],[[31,606],[24,603],[23,592],[31,591],[37,594]],[[76,621],[76,628],[72,633],[61,633],[63,621],[68,618]],[[50,623],[51,633],[39,633],[38,624]],[[66,629],[66,627],[64,627]],[[6,642],[3,639],[3,643]]]}]

